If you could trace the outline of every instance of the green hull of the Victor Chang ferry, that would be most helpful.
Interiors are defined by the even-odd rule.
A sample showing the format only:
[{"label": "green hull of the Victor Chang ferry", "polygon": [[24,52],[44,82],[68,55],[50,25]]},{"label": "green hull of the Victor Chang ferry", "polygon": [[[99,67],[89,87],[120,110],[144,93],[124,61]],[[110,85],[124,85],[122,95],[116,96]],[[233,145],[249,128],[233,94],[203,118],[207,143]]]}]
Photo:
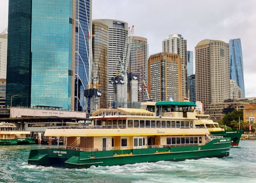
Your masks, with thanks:
[{"label": "green hull of the Victor Chang ferry", "polygon": [[183,161],[205,157],[229,155],[230,139],[214,139],[204,146],[179,146],[142,148],[115,151],[84,152],[66,149],[31,150],[28,164],[64,166],[66,168],[89,168],[157,161]]}]

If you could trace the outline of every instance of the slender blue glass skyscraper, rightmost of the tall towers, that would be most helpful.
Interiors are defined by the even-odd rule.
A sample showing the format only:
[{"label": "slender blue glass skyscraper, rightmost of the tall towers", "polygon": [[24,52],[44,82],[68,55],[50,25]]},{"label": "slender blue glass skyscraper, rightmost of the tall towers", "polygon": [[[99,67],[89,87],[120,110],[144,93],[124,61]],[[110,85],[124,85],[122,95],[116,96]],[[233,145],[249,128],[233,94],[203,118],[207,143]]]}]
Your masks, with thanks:
[{"label": "slender blue glass skyscraper, rightmost of the tall towers", "polygon": [[244,65],[241,40],[229,40],[229,59],[230,59],[230,79],[232,79],[242,90],[242,95],[245,97],[244,91]]}]

